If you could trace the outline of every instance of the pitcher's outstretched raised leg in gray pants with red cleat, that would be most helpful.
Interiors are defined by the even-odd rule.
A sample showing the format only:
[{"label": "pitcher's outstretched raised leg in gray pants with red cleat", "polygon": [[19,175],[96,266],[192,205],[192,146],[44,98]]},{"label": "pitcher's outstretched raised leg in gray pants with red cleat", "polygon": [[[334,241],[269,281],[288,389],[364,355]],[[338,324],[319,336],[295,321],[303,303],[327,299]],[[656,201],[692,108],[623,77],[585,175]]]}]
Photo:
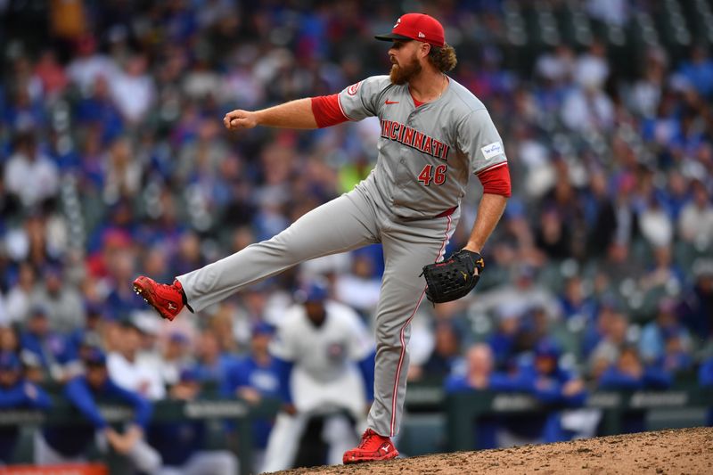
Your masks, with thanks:
[{"label": "pitcher's outstretched raised leg in gray pants with red cleat", "polygon": [[377,235],[372,204],[355,190],[313,209],[268,241],[179,275],[172,285],[140,276],[134,289],[161,316],[173,320],[188,304],[200,311],[300,262],[377,242]]}]

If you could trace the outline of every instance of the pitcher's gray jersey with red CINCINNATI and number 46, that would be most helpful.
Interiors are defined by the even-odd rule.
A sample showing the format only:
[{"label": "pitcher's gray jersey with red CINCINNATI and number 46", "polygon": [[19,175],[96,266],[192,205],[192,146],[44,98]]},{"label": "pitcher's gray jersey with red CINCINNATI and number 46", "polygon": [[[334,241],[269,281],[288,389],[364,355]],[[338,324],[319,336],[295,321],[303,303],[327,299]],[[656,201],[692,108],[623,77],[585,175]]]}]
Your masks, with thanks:
[{"label": "pitcher's gray jersey with red CINCINNATI and number 46", "polygon": [[348,119],[381,120],[379,159],[367,184],[400,217],[434,217],[457,206],[471,174],[503,163],[503,141],[482,102],[455,80],[414,105],[407,85],[373,76],[339,94]]}]

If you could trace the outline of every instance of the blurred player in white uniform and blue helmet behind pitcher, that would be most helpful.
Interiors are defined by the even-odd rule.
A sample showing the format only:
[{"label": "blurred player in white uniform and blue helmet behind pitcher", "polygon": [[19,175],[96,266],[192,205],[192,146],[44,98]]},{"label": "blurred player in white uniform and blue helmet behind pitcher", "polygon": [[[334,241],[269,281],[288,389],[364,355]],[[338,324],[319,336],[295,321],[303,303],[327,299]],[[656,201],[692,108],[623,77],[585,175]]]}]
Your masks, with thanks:
[{"label": "blurred player in white uniform and blue helmet behind pitcher", "polygon": [[299,291],[302,303],[288,310],[271,342],[284,406],[263,471],[291,468],[313,415],[326,415],[322,439],[329,464],[341,462],[357,442],[355,425],[365,425],[373,400],[373,340],[353,309],[327,297],[325,284],[317,281]]}]

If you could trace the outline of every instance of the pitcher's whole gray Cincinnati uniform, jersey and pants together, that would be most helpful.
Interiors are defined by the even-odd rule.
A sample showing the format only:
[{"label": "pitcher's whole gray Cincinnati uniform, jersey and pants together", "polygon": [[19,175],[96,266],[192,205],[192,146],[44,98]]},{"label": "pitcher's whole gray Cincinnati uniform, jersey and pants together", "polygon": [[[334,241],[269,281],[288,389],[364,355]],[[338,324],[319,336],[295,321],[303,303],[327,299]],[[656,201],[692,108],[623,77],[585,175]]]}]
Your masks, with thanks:
[{"label": "pitcher's whole gray Cincinnati uniform, jersey and pants together", "polygon": [[349,86],[338,102],[348,119],[381,119],[372,174],[274,238],[177,279],[201,310],[307,259],[381,242],[385,266],[368,425],[393,436],[406,397],[409,323],[425,291],[422,266],[443,258],[468,179],[503,166],[504,146],[482,102],[453,79],[438,99],[419,107],[408,86],[395,86],[387,76]]}]

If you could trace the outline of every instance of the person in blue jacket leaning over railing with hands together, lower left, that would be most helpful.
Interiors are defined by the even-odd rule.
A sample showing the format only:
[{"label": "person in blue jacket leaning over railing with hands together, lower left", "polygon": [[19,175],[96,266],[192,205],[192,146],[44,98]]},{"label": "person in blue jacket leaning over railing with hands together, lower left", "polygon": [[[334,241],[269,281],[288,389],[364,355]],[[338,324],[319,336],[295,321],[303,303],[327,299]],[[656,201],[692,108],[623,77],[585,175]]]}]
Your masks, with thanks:
[{"label": "person in blue jacket leaning over railing with hands together, lower left", "polygon": [[[86,372],[69,381],[64,397],[74,405],[88,423],[47,426],[35,440],[35,463],[38,465],[81,462],[88,446],[99,435],[103,442],[121,455],[126,455],[143,473],[158,473],[161,459],[158,452],[143,438],[152,415],[152,406],[135,392],[120,388],[111,381],[106,368],[106,356],[98,348],[85,353]],[[134,420],[127,430],[114,430],[103,418],[97,401],[130,405]]]}]

